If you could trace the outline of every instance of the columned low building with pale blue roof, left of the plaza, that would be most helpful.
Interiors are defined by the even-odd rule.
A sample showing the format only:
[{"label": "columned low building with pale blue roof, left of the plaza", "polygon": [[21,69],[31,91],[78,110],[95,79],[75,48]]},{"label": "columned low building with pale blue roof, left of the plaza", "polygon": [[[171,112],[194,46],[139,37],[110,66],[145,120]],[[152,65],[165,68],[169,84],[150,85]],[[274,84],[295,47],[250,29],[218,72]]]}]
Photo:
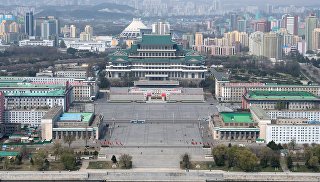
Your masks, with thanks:
[{"label": "columned low building with pale blue roof, left of the plaza", "polygon": [[41,120],[43,140],[61,140],[71,135],[75,140],[98,140],[103,116],[94,113],[63,113],[62,107],[50,109]]}]

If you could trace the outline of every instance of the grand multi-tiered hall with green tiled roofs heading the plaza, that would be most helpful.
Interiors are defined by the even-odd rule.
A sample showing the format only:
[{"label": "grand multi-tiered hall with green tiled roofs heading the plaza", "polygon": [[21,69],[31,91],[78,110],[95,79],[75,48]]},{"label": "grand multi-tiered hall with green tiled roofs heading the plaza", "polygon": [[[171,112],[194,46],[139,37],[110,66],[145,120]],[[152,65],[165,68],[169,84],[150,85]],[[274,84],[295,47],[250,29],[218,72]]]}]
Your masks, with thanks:
[{"label": "grand multi-tiered hall with green tiled roofs heading the plaza", "polygon": [[202,80],[207,71],[204,56],[183,49],[171,35],[142,35],[130,49],[109,55],[109,60],[110,79],[131,74],[142,80]]}]

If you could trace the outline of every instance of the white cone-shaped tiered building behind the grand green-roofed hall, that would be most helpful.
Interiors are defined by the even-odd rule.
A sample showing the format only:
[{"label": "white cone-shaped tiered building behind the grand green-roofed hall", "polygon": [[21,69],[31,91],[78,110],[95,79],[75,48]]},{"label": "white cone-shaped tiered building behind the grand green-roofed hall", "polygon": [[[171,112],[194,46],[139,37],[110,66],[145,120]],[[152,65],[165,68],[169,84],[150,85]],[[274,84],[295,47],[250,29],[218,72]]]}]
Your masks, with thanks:
[{"label": "white cone-shaped tiered building behind the grand green-roofed hall", "polygon": [[130,25],[122,31],[120,37],[136,38],[140,36],[140,29],[147,28],[140,18],[134,18]]}]

